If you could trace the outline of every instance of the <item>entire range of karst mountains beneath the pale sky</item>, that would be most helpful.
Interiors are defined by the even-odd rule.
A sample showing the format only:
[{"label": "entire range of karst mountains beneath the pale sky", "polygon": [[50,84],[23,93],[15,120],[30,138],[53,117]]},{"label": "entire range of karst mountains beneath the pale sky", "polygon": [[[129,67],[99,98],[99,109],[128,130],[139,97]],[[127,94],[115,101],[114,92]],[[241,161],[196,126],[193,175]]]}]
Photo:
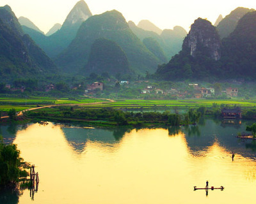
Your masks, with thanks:
[{"label": "entire range of karst mountains beneath the pale sky", "polygon": [[254,14],[237,8],[223,19],[220,16],[216,27],[198,18],[187,34],[180,26],[162,31],[148,20],[127,23],[116,10],[92,15],[82,0],[62,26],[54,25],[45,35],[28,18],[18,21],[4,6],[0,8],[1,77],[6,81],[47,73],[86,77],[93,72],[136,76],[157,70],[154,76],[164,80],[211,80],[224,74],[253,78]]}]

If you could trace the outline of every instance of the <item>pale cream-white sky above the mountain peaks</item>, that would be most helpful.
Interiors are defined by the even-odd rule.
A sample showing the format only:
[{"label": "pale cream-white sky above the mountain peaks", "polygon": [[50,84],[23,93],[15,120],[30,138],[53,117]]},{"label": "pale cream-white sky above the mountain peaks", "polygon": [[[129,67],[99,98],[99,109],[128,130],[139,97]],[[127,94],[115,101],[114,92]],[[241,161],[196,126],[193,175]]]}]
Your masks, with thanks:
[{"label": "pale cream-white sky above the mountain peaks", "polygon": [[[173,29],[180,25],[189,31],[189,27],[198,17],[207,18],[214,24],[221,14],[242,6],[256,9],[255,0],[86,0],[92,14],[108,10],[120,11],[127,21],[136,24],[148,19],[161,29]],[[63,24],[69,11],[77,0],[0,0],[0,6],[8,4],[15,15],[29,18],[42,31],[47,33],[52,25]]]}]

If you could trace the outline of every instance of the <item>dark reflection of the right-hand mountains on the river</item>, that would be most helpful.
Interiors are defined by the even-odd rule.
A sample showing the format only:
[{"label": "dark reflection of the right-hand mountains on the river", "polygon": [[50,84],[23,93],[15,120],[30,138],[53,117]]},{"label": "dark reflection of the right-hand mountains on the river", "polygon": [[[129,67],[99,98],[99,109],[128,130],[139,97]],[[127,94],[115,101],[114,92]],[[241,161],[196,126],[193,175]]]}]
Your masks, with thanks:
[{"label": "dark reflection of the right-hand mountains on the river", "polygon": [[246,129],[246,123],[239,121],[223,125],[223,123],[212,119],[206,119],[204,126],[185,126],[182,131],[186,135],[186,142],[192,152],[207,149],[218,141],[221,147],[225,147],[228,152],[235,152],[255,159],[256,143],[252,140],[243,141],[236,138],[238,132],[243,132]]}]

